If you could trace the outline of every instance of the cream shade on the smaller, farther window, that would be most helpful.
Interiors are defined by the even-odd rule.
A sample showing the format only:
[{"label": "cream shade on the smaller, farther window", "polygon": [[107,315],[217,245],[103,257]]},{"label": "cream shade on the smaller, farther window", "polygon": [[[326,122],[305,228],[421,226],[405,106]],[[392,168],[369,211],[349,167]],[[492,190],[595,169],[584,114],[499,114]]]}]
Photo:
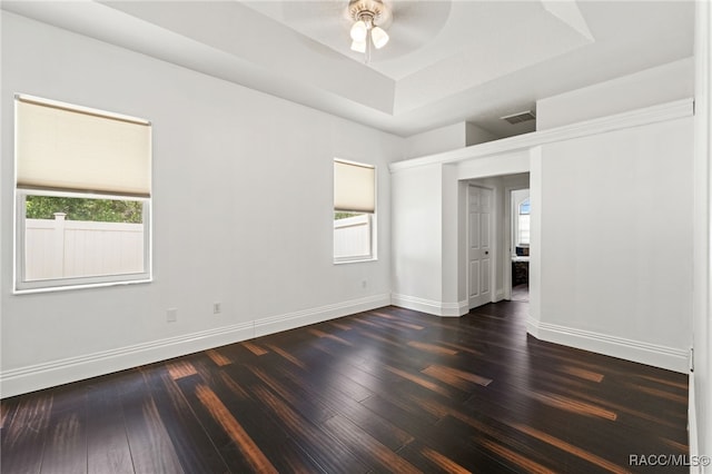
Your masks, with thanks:
[{"label": "cream shade on the smaller, farther window", "polygon": [[373,166],[334,160],[334,210],[376,210],[376,169]]}]

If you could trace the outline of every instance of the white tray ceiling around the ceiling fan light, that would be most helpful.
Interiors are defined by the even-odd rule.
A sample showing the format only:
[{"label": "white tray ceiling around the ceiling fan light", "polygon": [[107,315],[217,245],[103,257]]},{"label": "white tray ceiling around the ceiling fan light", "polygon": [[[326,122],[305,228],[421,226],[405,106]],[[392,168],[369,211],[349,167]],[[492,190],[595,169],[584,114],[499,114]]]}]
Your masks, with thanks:
[{"label": "white tray ceiling around the ceiling fan light", "polygon": [[350,51],[347,0],[2,1],[2,9],[397,135],[500,117],[692,56],[694,2],[390,0],[390,42]]}]

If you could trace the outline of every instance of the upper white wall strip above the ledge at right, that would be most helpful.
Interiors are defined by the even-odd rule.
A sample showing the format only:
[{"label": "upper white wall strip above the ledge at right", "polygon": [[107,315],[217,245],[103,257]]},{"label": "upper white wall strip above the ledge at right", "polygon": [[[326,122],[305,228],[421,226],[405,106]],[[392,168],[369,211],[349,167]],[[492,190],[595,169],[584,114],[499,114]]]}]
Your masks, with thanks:
[{"label": "upper white wall strip above the ledge at right", "polygon": [[547,130],[694,95],[694,60],[655,68],[536,101],[536,129]]}]

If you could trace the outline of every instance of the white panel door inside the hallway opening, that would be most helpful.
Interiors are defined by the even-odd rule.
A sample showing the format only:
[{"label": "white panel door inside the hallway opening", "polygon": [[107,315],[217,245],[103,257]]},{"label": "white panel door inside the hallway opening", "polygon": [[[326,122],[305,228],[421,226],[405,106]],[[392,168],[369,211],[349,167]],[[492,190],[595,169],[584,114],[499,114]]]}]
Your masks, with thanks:
[{"label": "white panel door inside the hallway opening", "polygon": [[469,308],[492,300],[492,189],[467,187]]}]

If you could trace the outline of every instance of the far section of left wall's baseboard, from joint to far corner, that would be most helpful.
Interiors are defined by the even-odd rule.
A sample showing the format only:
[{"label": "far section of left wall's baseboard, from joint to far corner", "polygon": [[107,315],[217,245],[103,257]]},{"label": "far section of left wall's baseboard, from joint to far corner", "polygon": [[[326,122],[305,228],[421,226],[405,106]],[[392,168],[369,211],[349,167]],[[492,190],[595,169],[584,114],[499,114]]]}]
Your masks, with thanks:
[{"label": "far section of left wall's baseboard, from joint to far corner", "polygon": [[359,299],[352,299],[335,305],[288,313],[255,320],[255,337],[294,329],[355,313],[367,312],[390,305],[390,295],[375,295]]}]

